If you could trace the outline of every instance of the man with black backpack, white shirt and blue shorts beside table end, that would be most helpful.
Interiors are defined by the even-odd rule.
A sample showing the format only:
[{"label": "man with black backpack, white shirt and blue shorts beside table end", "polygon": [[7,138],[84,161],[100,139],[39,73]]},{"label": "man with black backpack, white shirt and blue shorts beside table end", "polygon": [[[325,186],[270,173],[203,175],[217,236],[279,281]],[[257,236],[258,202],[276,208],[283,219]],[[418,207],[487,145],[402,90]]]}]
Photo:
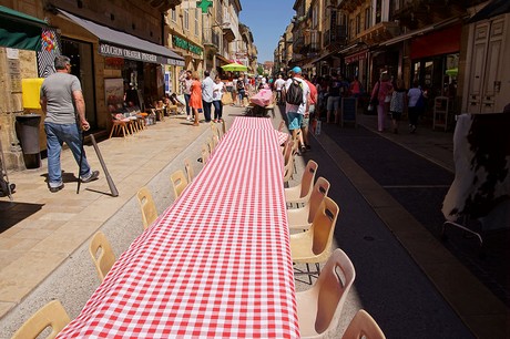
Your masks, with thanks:
[{"label": "man with black backpack, white shirt and blue shorts beside table end", "polygon": [[[295,83],[295,81],[297,83]],[[307,100],[309,92],[308,84],[302,76],[302,69],[298,66],[293,68],[290,76],[285,83],[287,101],[285,112],[287,114],[288,131],[292,132],[293,138],[298,138],[302,153],[306,152],[306,146],[303,140],[303,133],[298,132],[300,132],[305,112],[308,111]]]}]

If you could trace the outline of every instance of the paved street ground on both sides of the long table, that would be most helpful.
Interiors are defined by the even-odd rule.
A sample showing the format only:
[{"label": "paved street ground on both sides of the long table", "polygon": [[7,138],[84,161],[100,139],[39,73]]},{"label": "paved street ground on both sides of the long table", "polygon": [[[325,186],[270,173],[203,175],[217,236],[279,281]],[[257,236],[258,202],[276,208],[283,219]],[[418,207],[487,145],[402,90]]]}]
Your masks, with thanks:
[{"label": "paved street ground on both sides of the long table", "polygon": [[[227,125],[243,113],[225,111]],[[282,115],[278,110],[275,115],[277,126]],[[442,223],[438,204],[452,179],[451,133],[424,127],[416,135],[378,134],[375,116],[360,115],[358,129],[323,125],[312,151],[297,158],[298,171],[315,160],[318,175],[332,183],[329,195],[341,209],[335,246],[357,273],[338,337],[359,308],[387,338],[508,337],[504,295],[494,297],[434,235]],[[75,317],[99,285],[88,254],[90,236],[103,230],[119,257],[142,232],[137,188],[149,186],[162,212],[174,199],[170,174],[183,168],[185,157],[200,171],[196,158],[210,136],[207,124],[194,129],[181,115],[126,140],[100,142],[119,197],[109,196],[103,175],[76,195],[70,152],[62,158],[68,181],[57,194],[45,187],[45,162],[40,170],[10,173],[18,192],[13,203],[0,198],[0,226],[7,228],[0,235],[0,338],[53,298]],[[93,148],[86,152],[100,168]],[[399,166],[401,172],[392,172]]]}]

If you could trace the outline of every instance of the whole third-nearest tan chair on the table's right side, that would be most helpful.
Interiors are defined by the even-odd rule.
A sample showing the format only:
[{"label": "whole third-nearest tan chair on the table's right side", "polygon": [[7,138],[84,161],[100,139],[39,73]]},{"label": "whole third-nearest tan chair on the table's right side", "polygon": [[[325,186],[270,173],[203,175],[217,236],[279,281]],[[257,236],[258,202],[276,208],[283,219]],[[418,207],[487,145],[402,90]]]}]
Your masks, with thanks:
[{"label": "whole third-nearest tan chair on the table's right side", "polygon": [[[333,234],[340,208],[329,197],[324,197],[309,229],[290,235],[293,263],[306,264],[306,274],[312,284],[312,276],[320,273],[319,264],[326,263],[332,255]],[[315,264],[316,271],[310,273],[309,264]]]}]

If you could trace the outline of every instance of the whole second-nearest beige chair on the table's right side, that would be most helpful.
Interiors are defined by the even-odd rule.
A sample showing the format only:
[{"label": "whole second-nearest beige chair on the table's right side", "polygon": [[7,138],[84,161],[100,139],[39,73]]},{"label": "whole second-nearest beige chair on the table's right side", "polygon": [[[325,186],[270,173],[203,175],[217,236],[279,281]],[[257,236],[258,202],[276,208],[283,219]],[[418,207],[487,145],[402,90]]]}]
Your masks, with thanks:
[{"label": "whole second-nearest beige chair on the table's right side", "polygon": [[355,278],[356,271],[349,257],[341,249],[335,249],[314,286],[296,294],[302,338],[337,337],[341,309]]}]

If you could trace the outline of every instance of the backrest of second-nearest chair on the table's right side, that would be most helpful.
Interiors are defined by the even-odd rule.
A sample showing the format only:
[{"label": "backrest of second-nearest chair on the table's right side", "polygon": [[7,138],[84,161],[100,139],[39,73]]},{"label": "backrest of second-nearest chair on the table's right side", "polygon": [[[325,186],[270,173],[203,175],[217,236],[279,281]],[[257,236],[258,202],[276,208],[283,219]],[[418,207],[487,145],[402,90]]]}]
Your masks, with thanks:
[{"label": "backrest of second-nearest chair on the table's right side", "polygon": [[335,249],[313,287],[317,290],[317,315],[315,318],[317,333],[336,330],[341,309],[355,278],[356,270],[349,257],[341,249]]}]

